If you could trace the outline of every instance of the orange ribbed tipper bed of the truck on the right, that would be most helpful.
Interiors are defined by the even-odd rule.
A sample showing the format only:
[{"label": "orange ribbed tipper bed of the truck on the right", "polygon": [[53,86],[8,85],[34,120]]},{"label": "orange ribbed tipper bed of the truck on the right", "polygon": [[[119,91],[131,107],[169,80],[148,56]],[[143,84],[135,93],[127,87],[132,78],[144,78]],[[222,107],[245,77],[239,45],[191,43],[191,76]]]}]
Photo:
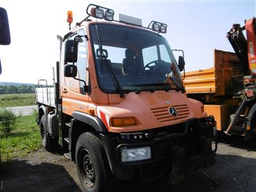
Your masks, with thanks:
[{"label": "orange ribbed tipper bed of the truck on the right", "polygon": [[232,93],[231,68],[239,62],[235,53],[214,49],[214,67],[186,72],[184,84],[189,93],[214,93],[215,96]]}]

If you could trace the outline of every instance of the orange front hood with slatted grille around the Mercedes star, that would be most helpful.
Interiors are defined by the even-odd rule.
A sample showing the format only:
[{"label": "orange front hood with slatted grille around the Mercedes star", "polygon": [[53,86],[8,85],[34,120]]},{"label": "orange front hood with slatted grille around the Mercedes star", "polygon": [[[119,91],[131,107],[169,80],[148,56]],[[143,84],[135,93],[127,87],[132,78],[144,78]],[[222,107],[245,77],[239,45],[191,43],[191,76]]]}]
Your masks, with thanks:
[{"label": "orange front hood with slatted grille around the Mercedes star", "polygon": [[[177,109],[178,115],[173,117],[168,112],[170,107]],[[189,118],[203,118],[202,103],[188,99],[181,92],[157,91],[154,93],[128,93],[119,104],[97,106],[97,116],[102,119],[110,132],[131,132],[154,129],[168,125],[180,124]],[[113,127],[111,118],[132,117],[136,125]]]}]

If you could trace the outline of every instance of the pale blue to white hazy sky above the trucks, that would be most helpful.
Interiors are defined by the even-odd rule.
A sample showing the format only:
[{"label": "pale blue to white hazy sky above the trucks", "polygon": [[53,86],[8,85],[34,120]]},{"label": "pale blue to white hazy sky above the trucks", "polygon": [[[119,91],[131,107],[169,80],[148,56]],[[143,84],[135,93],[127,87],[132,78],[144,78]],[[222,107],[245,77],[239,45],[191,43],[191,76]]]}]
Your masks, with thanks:
[{"label": "pale blue to white hazy sky above the trucks", "polygon": [[226,38],[232,24],[244,25],[256,17],[254,1],[80,1],[80,0],[1,0],[8,12],[12,42],[0,45],[2,74],[0,82],[52,82],[52,67],[59,58],[57,35],[68,32],[67,11],[76,22],[86,17],[89,3],[99,4],[118,13],[166,23],[163,36],[172,49],[182,49],[186,71],[213,67],[213,50],[233,51]]}]

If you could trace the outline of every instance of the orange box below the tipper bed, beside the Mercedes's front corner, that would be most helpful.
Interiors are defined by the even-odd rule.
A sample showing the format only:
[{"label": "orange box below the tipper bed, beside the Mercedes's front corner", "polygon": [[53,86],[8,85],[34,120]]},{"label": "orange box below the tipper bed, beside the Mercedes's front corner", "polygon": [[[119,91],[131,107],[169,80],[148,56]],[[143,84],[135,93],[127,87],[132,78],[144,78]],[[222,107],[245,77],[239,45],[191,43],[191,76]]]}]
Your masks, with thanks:
[{"label": "orange box below the tipper bed, beside the Mercedes's front corner", "polygon": [[207,115],[213,115],[216,120],[216,128],[223,131],[229,124],[230,105],[204,105],[204,111]]}]

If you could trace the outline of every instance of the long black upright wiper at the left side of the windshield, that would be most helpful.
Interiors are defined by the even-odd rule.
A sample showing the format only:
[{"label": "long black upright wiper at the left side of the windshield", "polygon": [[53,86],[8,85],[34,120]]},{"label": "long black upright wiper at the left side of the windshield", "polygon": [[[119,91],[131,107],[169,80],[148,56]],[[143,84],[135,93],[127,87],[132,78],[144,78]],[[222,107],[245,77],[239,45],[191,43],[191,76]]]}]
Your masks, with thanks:
[{"label": "long black upright wiper at the left side of the windshield", "polygon": [[120,83],[118,82],[118,80],[116,79],[116,76],[115,76],[115,73],[113,72],[106,56],[104,55],[104,52],[103,52],[103,49],[102,49],[102,43],[101,43],[101,40],[100,40],[100,35],[99,35],[99,31],[98,31],[98,27],[97,27],[97,24],[96,24],[96,31],[97,31],[97,35],[98,35],[98,39],[99,39],[99,50],[100,50],[100,62],[101,62],[101,65],[102,65],[102,60],[104,59],[104,62],[108,68],[108,71],[109,71],[109,74],[111,74],[111,77],[113,77],[113,80],[115,82],[115,86],[116,86],[116,89],[118,90],[118,92],[120,93],[120,97],[123,98],[124,97],[124,91],[122,89],[122,86],[120,85]]}]

